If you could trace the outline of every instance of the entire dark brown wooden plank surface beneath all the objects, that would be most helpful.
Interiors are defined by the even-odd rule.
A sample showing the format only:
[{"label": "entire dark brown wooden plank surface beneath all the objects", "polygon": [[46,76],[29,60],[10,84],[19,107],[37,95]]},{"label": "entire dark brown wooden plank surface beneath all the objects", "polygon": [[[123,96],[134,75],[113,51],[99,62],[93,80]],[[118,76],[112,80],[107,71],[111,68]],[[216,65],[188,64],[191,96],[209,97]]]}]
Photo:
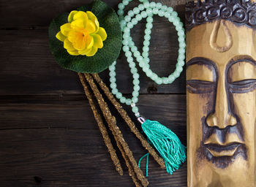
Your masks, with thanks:
[{"label": "entire dark brown wooden plank surface beneath all the objects", "polygon": [[[90,1],[0,0],[1,187],[134,186],[124,161],[124,176],[115,171],[78,75],[61,69],[48,47],[50,21]],[[184,21],[185,0],[158,1],[176,9]],[[117,9],[120,0],[105,2]],[[144,28],[141,21],[132,30],[139,49]],[[176,30],[165,18],[156,18],[151,38],[151,69],[167,76],[176,65]],[[139,72],[140,113],[168,126],[186,145],[184,72],[172,85],[160,86]],[[100,76],[109,84],[108,70]],[[129,96],[132,77],[123,53],[117,79],[118,88]],[[146,150],[121,119],[118,122],[135,159],[140,159]],[[187,186],[187,164],[167,175],[150,158],[148,180],[150,186]]]}]

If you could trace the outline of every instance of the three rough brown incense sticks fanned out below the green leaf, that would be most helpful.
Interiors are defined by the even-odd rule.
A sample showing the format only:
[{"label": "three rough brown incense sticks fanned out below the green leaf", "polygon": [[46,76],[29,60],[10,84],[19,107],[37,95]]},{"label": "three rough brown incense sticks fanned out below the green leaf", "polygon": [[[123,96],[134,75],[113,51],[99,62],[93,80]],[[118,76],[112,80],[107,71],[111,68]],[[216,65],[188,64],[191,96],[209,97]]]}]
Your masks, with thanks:
[{"label": "three rough brown incense sticks fanned out below the green leaf", "polygon": [[[103,83],[102,79],[99,77],[98,74],[78,73],[78,75],[80,77],[80,82],[83,85],[86,96],[89,99],[91,110],[93,110],[94,112],[94,118],[98,123],[99,130],[102,133],[105,145],[107,146],[111,159],[113,160],[113,164],[116,167],[116,171],[120,175],[123,175],[123,169],[121,167],[118,156],[116,156],[116,150],[115,148],[113,148],[113,145],[110,141],[107,127],[103,122],[102,115],[100,115],[99,110],[101,110],[103,118],[105,118],[105,121],[108,123],[108,128],[110,129],[114,139],[116,140],[116,145],[124,158],[124,161],[129,169],[129,175],[132,177],[132,181],[135,183],[135,186],[148,186],[148,180],[145,178],[143,172],[138,167],[137,161],[135,161],[135,158],[132,155],[132,151],[129,149],[129,146],[124,140],[121,130],[116,124],[116,118],[111,114],[108,104],[103,99],[99,89],[101,89],[105,93],[109,101],[113,104],[114,107],[116,107],[116,110],[121,115],[121,117],[124,118],[124,121],[127,123],[131,131],[135,134],[136,137],[138,137],[143,147],[148,150],[148,153],[153,156],[153,158],[157,161],[160,167],[162,167],[162,169],[165,169],[165,161],[161,157],[159,157],[154,148],[149,145],[146,138],[143,137],[143,134],[140,133],[138,128],[135,126],[135,123],[133,123],[131,118],[129,118],[127,112],[123,109],[123,107],[121,107],[121,104],[116,101],[113,94],[109,91],[108,86]],[[90,88],[93,93],[91,93]]]}]

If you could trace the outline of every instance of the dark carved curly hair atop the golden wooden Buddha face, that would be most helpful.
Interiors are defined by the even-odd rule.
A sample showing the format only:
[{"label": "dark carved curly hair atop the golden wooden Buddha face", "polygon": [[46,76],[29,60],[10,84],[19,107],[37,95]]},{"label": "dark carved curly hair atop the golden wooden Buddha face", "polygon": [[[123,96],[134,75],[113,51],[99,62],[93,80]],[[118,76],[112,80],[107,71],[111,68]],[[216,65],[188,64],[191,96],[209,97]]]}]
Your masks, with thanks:
[{"label": "dark carved curly hair atop the golden wooden Buddha face", "polygon": [[256,4],[249,0],[205,0],[186,4],[186,29],[214,20],[230,20],[256,28]]}]

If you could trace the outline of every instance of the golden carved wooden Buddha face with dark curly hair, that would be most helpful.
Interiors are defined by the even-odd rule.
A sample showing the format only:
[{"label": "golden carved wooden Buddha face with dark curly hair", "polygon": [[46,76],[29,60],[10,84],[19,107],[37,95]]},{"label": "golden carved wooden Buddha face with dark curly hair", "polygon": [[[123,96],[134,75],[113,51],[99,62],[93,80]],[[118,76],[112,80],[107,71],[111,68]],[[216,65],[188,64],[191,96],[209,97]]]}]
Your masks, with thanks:
[{"label": "golden carved wooden Buddha face with dark curly hair", "polygon": [[255,187],[256,6],[189,2],[188,186]]}]

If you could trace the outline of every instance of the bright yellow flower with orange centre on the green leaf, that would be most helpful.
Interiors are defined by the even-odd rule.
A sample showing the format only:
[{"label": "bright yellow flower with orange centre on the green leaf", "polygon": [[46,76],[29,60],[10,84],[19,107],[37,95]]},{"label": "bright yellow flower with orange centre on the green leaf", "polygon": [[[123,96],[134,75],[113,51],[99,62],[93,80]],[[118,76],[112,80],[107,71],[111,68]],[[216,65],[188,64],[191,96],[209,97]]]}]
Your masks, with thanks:
[{"label": "bright yellow flower with orange centre on the green leaf", "polygon": [[94,56],[107,38],[96,16],[90,11],[74,10],[69,13],[67,20],[68,23],[61,26],[56,38],[64,42],[64,48],[72,56]]}]

